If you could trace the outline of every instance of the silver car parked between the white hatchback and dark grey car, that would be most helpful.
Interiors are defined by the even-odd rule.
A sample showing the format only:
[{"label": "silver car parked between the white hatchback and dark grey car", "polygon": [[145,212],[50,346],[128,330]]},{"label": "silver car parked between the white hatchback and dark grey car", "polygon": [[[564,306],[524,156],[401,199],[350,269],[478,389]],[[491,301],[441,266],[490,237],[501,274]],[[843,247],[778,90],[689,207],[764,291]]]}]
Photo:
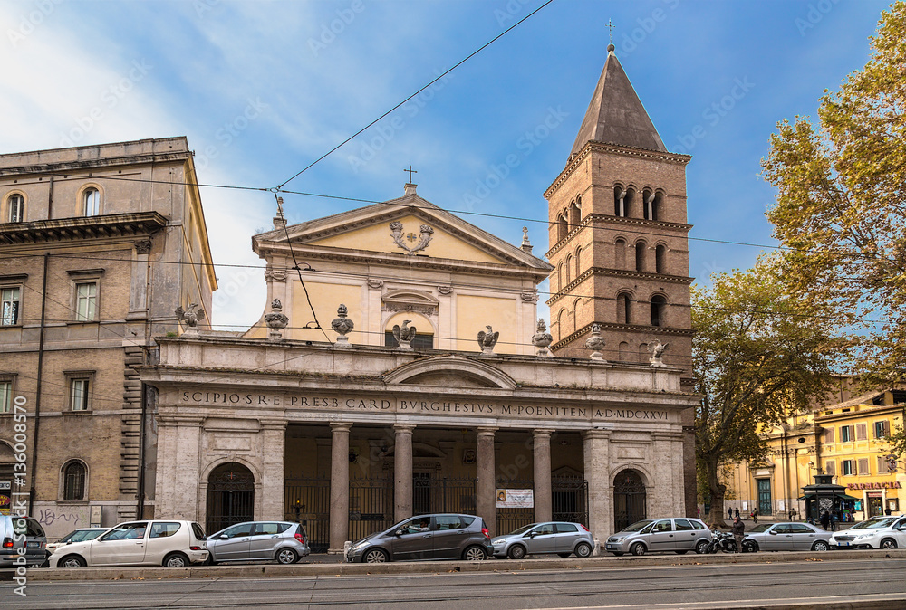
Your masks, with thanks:
[{"label": "silver car parked between the white hatchback and dark grey car", "polygon": [[274,560],[292,564],[307,556],[308,536],[298,523],[246,521],[207,537],[208,563]]}]

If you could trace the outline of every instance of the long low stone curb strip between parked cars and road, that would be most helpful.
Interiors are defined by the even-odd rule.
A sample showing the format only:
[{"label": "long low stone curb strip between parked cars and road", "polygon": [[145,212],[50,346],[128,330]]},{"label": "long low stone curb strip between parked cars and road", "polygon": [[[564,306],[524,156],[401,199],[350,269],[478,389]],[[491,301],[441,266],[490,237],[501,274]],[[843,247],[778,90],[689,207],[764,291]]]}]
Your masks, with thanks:
[{"label": "long low stone curb strip between parked cars and road", "polygon": [[448,572],[515,572],[597,567],[706,566],[725,564],[840,561],[860,558],[906,558],[906,548],[890,550],[781,551],[726,555],[661,555],[657,557],[593,557],[570,559],[487,559],[485,561],[416,561],[386,564],[337,563],[255,564],[199,567],[73,567],[28,570],[28,581],[160,580],[164,578],[326,577]]}]

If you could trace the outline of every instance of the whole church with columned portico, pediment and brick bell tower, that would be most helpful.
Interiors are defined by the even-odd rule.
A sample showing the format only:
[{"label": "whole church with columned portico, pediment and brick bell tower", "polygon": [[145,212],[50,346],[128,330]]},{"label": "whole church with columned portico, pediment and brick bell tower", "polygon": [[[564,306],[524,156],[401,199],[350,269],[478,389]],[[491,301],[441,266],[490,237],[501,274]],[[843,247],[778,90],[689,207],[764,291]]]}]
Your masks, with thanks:
[{"label": "whole church with columned portico, pediment and brick bell tower", "polygon": [[158,392],[157,515],[209,532],[298,519],[340,551],[419,513],[496,533],[577,520],[598,538],[694,513],[689,157],[663,147],[610,51],[545,194],[550,262],[413,184],[255,235],[259,321],[160,337],[141,369]]}]

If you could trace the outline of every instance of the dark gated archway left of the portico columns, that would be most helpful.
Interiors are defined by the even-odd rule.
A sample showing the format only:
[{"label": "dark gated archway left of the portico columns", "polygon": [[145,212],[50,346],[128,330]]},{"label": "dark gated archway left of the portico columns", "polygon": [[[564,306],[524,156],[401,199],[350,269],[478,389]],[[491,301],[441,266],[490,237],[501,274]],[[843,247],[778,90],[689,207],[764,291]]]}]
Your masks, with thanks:
[{"label": "dark gated archway left of the portico columns", "polygon": [[255,475],[240,463],[220,464],[207,477],[207,533],[252,519]]}]

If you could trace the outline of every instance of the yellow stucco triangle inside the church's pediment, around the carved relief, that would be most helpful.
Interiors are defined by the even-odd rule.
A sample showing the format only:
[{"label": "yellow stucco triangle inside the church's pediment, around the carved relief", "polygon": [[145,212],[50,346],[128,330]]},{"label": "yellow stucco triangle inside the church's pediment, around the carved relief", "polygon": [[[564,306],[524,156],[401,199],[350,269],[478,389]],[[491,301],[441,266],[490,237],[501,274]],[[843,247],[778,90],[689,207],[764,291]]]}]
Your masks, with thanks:
[{"label": "yellow stucco triangle inside the church's pediment, around the carved relief", "polygon": [[[402,234],[405,243],[410,245],[410,247],[415,245],[416,243],[419,243],[419,240],[421,239],[421,235],[419,234],[419,227],[422,224],[426,224],[425,221],[417,218],[416,216],[409,215],[402,218],[400,222],[403,226]],[[482,250],[479,250],[472,244],[462,241],[458,237],[439,230],[438,227],[434,224],[428,224],[434,229],[434,236],[431,238],[431,242],[429,243],[428,248],[419,251],[419,254],[426,254],[428,256],[436,258],[458,259],[462,261],[496,263],[504,262]],[[414,241],[406,239],[405,236],[409,234],[415,234],[416,239]],[[362,227],[361,229],[347,231],[343,234],[332,235],[323,239],[314,240],[313,242],[309,243],[311,243],[312,245],[324,245],[333,248],[369,250],[371,252],[402,252],[400,247],[393,242],[393,238],[390,234],[390,223],[374,224],[372,226]]]}]

